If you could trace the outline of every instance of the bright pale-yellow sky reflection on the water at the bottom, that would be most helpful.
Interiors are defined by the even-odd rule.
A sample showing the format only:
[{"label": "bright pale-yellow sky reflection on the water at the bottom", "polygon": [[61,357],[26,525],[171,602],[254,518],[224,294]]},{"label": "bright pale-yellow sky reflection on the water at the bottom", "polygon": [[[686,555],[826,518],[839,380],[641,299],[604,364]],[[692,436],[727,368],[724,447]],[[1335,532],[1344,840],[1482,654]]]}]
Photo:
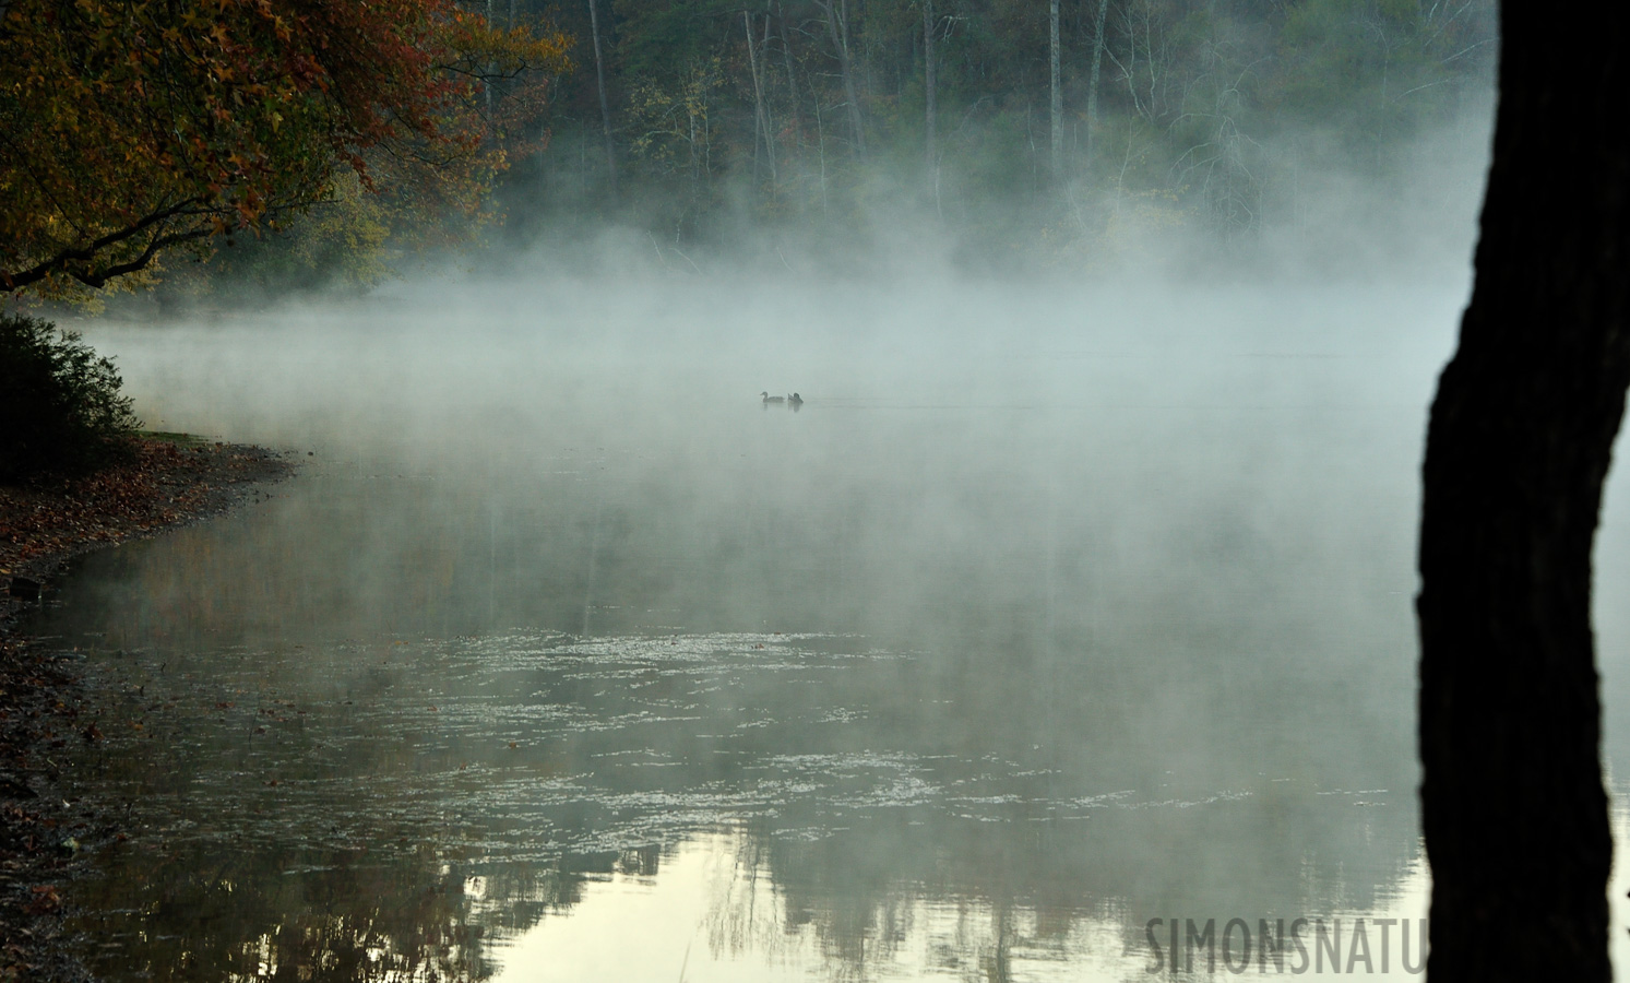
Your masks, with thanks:
[{"label": "bright pale-yellow sky reflection on the water at the bottom", "polygon": [[[787,916],[773,879],[753,862],[738,836],[699,836],[665,857],[659,875],[613,872],[588,885],[570,918],[541,921],[494,952],[502,983],[548,980],[1069,980],[1149,978],[1148,949],[1128,939],[1123,913],[1060,919],[1029,905],[985,898],[945,898],[901,892],[864,929],[851,960],[835,959],[838,944],[822,926]],[[471,884],[479,895],[481,884]],[[1410,924],[1426,908],[1428,880],[1413,864],[1397,897],[1372,910],[1324,910],[1345,931],[1358,918],[1394,918]],[[1240,911],[1239,915],[1249,915]],[[1255,929],[1255,919],[1252,919]],[[1369,932],[1376,932],[1369,936]],[[1418,929],[1412,928],[1412,939]],[[1240,936],[1236,934],[1237,941]],[[1350,934],[1346,937],[1351,937]],[[1379,929],[1371,967],[1376,980],[1407,980],[1399,929],[1382,972]],[[1164,928],[1161,929],[1164,942]],[[1131,942],[1131,944],[1130,944]],[[1345,947],[1350,949],[1350,947]],[[1203,960],[1203,949],[1200,950]],[[1216,950],[1221,960],[1221,949]],[[1232,949],[1237,959],[1240,949]],[[1271,957],[1270,957],[1271,960]],[[1418,965],[1420,949],[1412,950]],[[813,972],[812,967],[833,967]],[[1328,965],[1328,963],[1327,963]],[[1268,962],[1270,972],[1275,968]],[[1286,968],[1297,967],[1288,954]],[[1345,967],[1343,967],[1345,968]],[[1358,963],[1359,972],[1363,963]],[[1258,967],[1250,963],[1252,975]],[[1222,975],[1222,973],[1219,973]]]}]

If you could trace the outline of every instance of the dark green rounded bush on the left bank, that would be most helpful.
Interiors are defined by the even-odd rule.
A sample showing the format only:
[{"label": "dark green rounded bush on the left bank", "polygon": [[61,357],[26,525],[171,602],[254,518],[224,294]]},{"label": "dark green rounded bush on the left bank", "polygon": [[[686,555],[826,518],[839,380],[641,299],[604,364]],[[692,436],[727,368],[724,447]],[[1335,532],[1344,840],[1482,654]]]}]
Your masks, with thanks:
[{"label": "dark green rounded bush on the left bank", "polygon": [[73,331],[0,315],[0,481],[82,474],[124,453],[142,422],[122,381]]}]

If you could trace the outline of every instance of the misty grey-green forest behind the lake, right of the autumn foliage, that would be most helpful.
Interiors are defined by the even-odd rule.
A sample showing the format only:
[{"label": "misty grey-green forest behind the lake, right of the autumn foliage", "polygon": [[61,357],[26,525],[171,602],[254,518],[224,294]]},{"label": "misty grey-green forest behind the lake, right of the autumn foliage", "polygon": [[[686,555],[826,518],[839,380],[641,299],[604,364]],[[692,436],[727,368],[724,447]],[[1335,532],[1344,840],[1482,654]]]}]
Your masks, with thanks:
[{"label": "misty grey-green forest behind the lake, right of the autumn foliage", "polygon": [[[1384,171],[1490,85],[1491,0],[510,0],[574,68],[512,212],[678,240],[911,202],[962,227],[1232,238],[1297,168]],[[538,202],[543,202],[541,207]],[[1051,230],[1050,230],[1051,227]]]}]

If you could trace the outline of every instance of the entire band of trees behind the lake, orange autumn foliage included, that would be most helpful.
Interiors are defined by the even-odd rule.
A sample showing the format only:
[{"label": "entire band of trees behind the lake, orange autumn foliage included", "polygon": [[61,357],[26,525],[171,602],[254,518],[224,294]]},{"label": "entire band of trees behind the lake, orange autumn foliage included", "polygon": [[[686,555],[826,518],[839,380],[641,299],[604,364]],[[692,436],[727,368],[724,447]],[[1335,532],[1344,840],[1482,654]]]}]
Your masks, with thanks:
[{"label": "entire band of trees behind the lake, orange autumn foliage included", "polygon": [[500,215],[1232,240],[1394,166],[1496,36],[1493,0],[7,0],[0,289],[367,285]]}]

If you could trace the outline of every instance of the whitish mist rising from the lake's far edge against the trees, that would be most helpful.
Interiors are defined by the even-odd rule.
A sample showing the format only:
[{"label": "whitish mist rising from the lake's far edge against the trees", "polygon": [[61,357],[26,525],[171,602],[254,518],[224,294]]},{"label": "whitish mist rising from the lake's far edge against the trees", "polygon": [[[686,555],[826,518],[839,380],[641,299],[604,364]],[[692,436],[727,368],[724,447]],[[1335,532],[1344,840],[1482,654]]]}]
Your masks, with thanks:
[{"label": "whitish mist rising from the lake's far edge against the trees", "polygon": [[[530,212],[509,205],[505,225],[474,243],[401,249],[375,258],[365,282],[275,261],[277,238],[227,246],[187,264],[155,290],[106,297],[119,318],[171,321],[202,311],[385,297],[414,284],[598,282],[606,290],[730,282],[870,290],[898,282],[934,290],[967,277],[1032,284],[1469,284],[1488,163],[1490,103],[1399,148],[1387,173],[1350,160],[1291,165],[1286,196],[1265,222],[1219,235],[1172,196],[1121,187],[1048,189],[1029,201],[970,199],[962,214],[916,201],[898,174],[877,168],[867,197],[839,212],[764,217],[751,202],[720,204],[706,231],[650,220],[641,205]],[[1299,150],[1291,147],[1288,153]],[[985,214],[989,220],[973,217]],[[186,261],[184,261],[186,262]]]}]

